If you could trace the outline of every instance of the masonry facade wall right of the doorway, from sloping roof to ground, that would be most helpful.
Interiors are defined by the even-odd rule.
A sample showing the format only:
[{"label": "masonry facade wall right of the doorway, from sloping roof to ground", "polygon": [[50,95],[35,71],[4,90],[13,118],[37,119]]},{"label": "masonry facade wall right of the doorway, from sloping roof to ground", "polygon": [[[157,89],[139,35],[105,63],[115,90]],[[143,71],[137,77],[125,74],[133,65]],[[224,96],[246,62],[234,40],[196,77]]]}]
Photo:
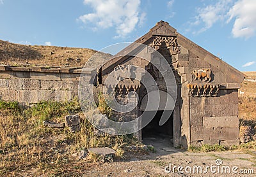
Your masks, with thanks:
[{"label": "masonry facade wall right of the doorway, from sloping roof to ground", "polygon": [[[173,61],[182,83],[181,144],[239,144],[238,88],[243,76],[180,34],[178,41],[181,51]],[[209,79],[206,74],[196,78],[207,69]]]}]

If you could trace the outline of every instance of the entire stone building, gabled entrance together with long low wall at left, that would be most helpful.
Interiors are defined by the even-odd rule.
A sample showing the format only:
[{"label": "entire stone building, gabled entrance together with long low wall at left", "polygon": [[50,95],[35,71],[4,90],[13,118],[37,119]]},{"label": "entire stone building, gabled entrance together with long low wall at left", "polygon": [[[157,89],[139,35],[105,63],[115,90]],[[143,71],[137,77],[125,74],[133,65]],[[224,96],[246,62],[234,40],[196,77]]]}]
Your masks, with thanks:
[{"label": "entire stone building, gabled entrance together with long low wall at left", "polygon": [[[139,129],[147,119],[147,114],[150,115],[150,111],[156,111],[153,120],[136,134],[139,139],[149,135],[164,134],[172,139],[173,146],[184,147],[239,143],[237,104],[238,88],[244,79],[243,73],[179,34],[167,22],[158,22],[135,42],[149,46],[146,52],[149,56],[154,54],[152,51],[154,48],[164,57],[165,64],[160,63],[160,66],[172,68],[171,73],[174,73],[172,76],[175,77],[173,90],[176,90],[173,108],[168,107],[168,101],[166,101],[168,86],[156,67],[148,60],[132,56],[113,57],[97,70],[81,67],[0,66],[0,98],[19,103],[70,100],[78,94],[79,77],[82,72],[91,85],[94,84],[95,87],[100,88],[109,87],[105,84],[106,78],[115,69],[123,69],[126,74],[132,76],[130,66],[138,66],[150,73],[156,81],[157,87],[161,90],[161,104],[157,109],[145,110],[150,92],[141,85],[140,80],[124,79],[118,88],[115,88],[118,100],[125,103],[127,90],[135,90],[139,100],[134,110],[129,113],[116,112],[115,115],[120,118],[118,121],[127,122],[144,113],[146,116],[135,125]],[[131,50],[132,46],[129,47]],[[125,50],[120,53],[125,53]],[[135,45],[134,50],[138,51],[140,47],[136,48]],[[93,78],[95,73],[98,81]],[[168,79],[168,72],[166,77]],[[120,76],[116,76],[116,79],[120,79]],[[169,113],[170,118],[160,126],[159,120],[163,111]]]}]

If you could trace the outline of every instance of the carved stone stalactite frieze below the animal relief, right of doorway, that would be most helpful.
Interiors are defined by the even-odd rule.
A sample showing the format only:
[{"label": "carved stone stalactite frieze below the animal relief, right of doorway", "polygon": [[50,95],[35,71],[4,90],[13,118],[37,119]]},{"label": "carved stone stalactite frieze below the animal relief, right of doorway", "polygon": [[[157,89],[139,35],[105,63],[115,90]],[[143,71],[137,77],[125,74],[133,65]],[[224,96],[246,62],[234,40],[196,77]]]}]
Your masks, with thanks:
[{"label": "carved stone stalactite frieze below the animal relief, right of doorway", "polygon": [[220,85],[189,83],[189,96],[193,97],[216,97],[220,90]]}]

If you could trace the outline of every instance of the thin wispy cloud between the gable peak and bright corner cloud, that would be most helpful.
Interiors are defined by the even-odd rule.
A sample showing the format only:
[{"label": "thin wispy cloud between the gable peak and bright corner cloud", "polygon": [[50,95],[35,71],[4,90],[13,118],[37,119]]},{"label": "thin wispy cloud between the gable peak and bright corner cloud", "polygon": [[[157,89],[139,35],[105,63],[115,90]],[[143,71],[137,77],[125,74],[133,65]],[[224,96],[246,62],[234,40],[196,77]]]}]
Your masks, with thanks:
[{"label": "thin wispy cloud between the gable peak and bright corner cloud", "polygon": [[204,32],[211,28],[219,20],[224,20],[227,16],[227,11],[230,9],[232,0],[219,0],[215,1],[215,4],[210,4],[203,8],[196,8],[197,15],[195,21],[191,22],[191,25],[201,25],[203,27],[195,33]]}]

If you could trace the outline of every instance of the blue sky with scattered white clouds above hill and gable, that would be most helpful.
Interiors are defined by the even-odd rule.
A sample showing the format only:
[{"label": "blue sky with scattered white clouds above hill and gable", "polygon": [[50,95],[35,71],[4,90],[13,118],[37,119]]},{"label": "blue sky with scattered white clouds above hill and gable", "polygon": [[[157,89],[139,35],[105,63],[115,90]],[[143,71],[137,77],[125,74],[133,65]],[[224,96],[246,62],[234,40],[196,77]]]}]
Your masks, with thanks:
[{"label": "blue sky with scattered white clouds above hill and gable", "polygon": [[164,20],[240,71],[256,71],[256,0],[0,0],[0,39],[101,50]]}]

